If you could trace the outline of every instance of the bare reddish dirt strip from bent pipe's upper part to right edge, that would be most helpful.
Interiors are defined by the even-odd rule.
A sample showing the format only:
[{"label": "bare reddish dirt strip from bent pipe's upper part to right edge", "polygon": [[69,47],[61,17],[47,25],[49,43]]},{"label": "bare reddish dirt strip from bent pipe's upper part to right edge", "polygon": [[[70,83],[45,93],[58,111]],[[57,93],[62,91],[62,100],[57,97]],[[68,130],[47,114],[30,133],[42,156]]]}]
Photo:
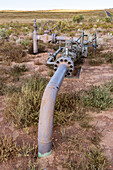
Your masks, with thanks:
[{"label": "bare reddish dirt strip from bent pipe's upper part to right edge", "polygon": [[92,85],[101,85],[113,79],[112,65],[103,64],[101,66],[89,66],[87,61],[82,66],[79,79],[65,79],[61,86],[61,91],[67,92],[88,89]]}]

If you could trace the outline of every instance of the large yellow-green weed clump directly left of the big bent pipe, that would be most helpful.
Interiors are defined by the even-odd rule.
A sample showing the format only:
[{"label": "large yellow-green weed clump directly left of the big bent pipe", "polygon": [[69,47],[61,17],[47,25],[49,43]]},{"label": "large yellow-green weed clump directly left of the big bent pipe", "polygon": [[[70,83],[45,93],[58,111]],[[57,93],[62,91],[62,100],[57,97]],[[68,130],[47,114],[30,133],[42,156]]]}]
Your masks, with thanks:
[{"label": "large yellow-green weed clump directly left of the big bent pipe", "polygon": [[6,98],[6,115],[18,127],[27,127],[38,124],[38,116],[42,95],[47,80],[39,75],[26,79],[20,92],[10,94]]}]

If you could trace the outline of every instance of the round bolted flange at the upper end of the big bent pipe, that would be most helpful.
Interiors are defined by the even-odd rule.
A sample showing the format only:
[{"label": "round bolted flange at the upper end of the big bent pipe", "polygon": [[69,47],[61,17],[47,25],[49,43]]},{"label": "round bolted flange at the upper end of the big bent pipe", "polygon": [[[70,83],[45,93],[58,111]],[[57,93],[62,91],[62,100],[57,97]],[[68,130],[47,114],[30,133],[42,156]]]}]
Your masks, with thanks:
[{"label": "round bolted flange at the upper end of the big bent pipe", "polygon": [[65,77],[69,77],[72,75],[72,72],[74,70],[74,64],[73,61],[71,60],[70,57],[60,57],[57,59],[56,63],[54,64],[54,70],[56,71],[57,68],[61,65],[64,64],[67,66],[67,72]]}]

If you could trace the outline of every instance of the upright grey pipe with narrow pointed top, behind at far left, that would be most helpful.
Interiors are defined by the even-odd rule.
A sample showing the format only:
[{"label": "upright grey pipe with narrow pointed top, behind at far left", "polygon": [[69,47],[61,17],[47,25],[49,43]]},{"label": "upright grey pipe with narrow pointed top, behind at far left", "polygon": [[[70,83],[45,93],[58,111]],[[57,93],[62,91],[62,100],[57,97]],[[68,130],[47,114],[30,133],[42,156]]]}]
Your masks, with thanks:
[{"label": "upright grey pipe with narrow pointed top, behind at far left", "polygon": [[36,19],[34,21],[34,31],[33,31],[33,53],[38,54],[38,39],[37,39],[37,25],[36,25]]}]

